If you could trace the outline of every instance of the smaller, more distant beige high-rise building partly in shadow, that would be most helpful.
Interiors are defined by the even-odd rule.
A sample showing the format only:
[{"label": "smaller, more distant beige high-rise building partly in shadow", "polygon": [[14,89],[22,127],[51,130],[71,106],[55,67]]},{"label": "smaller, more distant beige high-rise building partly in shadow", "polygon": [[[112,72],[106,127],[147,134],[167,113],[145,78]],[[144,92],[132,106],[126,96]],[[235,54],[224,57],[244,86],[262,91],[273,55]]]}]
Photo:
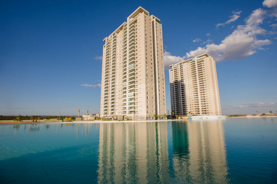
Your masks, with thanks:
[{"label": "smaller, more distant beige high-rise building partly in shadow", "polygon": [[202,54],[170,67],[171,110],[175,115],[221,115],[213,57]]}]

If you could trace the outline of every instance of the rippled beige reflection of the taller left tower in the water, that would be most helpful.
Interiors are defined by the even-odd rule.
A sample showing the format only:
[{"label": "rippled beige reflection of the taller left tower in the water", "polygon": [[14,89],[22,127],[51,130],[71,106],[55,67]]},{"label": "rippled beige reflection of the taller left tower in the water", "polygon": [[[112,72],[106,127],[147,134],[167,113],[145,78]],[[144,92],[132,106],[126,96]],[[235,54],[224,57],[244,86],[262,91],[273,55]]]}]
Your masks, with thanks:
[{"label": "rippled beige reflection of the taller left tower in the water", "polygon": [[99,183],[167,181],[167,123],[101,123]]}]

